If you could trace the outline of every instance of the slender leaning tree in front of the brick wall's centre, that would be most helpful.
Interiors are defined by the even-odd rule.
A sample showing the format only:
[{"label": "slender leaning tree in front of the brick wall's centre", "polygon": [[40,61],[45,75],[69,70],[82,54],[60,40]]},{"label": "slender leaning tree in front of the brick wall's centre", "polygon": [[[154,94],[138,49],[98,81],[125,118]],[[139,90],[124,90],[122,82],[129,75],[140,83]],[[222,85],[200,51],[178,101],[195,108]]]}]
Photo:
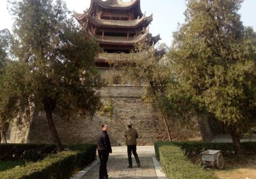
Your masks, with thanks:
[{"label": "slender leaning tree in front of the brick wall's centre", "polygon": [[153,106],[156,105],[166,127],[168,138],[172,141],[168,116],[164,113],[163,105],[161,105],[167,84],[173,80],[166,61],[157,54],[154,46],[145,42],[138,43],[130,54],[116,54],[116,56],[118,55],[118,59],[124,59],[122,63],[115,59],[109,60],[109,63],[113,63],[114,69],[122,69],[120,70],[122,77],[128,78],[134,84],[142,84],[145,87],[143,98],[145,102]]}]

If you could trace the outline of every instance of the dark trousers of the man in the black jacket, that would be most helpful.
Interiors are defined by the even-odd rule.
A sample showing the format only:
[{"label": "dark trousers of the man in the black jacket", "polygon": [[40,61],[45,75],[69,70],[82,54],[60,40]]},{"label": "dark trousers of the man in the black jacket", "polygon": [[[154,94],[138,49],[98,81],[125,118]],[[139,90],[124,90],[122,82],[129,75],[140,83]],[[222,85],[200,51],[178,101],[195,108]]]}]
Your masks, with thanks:
[{"label": "dark trousers of the man in the black jacket", "polygon": [[98,153],[100,158],[99,179],[106,179],[108,178],[107,163],[109,152],[98,150]]}]

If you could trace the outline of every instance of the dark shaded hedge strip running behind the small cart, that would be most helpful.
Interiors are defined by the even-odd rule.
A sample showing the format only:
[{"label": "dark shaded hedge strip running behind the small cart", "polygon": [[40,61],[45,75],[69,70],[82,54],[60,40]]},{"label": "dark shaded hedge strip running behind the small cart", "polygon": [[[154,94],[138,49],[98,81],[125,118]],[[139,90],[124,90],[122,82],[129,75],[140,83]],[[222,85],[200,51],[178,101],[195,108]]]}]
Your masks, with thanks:
[{"label": "dark shaded hedge strip running behind the small cart", "polygon": [[[184,150],[186,155],[198,155],[205,150],[221,150],[224,155],[233,155],[234,147],[232,143],[202,143],[202,142],[159,142],[155,143],[156,154],[159,146],[169,146],[169,145],[179,146]],[[256,153],[256,142],[245,142],[241,143],[242,152],[244,154],[255,154]]]}]

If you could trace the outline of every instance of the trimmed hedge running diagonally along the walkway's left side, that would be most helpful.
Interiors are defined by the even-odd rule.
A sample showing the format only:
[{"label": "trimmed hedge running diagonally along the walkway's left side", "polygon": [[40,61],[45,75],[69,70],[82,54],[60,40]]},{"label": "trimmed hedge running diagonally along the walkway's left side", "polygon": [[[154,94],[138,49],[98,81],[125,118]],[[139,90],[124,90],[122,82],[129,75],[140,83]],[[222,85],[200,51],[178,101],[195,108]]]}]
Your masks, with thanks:
[{"label": "trimmed hedge running diagonally along the walkway's left side", "polygon": [[90,164],[96,155],[95,144],[70,146],[69,151],[49,155],[44,160],[28,163],[1,173],[1,179],[70,178],[75,171]]}]

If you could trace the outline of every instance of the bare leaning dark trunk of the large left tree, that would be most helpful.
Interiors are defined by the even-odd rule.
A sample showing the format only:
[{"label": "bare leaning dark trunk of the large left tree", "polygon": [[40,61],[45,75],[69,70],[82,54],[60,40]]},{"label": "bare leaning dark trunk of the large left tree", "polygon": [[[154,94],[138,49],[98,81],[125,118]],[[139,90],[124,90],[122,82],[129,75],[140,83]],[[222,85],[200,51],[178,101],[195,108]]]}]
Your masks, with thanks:
[{"label": "bare leaning dark trunk of the large left tree", "polygon": [[52,112],[50,112],[50,111],[45,111],[45,113],[46,113],[48,125],[49,125],[49,127],[50,127],[51,132],[52,132],[52,137],[53,137],[53,139],[54,139],[54,141],[55,141],[55,143],[56,143],[57,151],[58,151],[58,152],[61,152],[61,151],[63,151],[63,146],[62,146],[62,144],[61,144],[60,137],[59,137],[59,135],[58,135],[58,132],[57,132],[57,130],[56,130],[56,127],[55,127],[55,125],[54,125],[54,122],[53,122],[53,120],[52,120]]}]

